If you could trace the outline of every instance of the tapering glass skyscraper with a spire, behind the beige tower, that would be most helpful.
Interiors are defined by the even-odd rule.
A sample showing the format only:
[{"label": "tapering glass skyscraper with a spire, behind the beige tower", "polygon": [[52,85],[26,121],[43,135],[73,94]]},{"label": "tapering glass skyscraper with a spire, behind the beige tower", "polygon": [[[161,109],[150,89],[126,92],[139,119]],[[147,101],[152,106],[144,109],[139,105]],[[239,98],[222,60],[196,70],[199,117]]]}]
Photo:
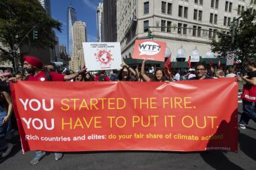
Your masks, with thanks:
[{"label": "tapering glass skyscraper with a spire, behind the beige tower", "polygon": [[67,7],[67,54],[72,56],[73,48],[73,24],[77,21],[75,9],[71,6]]}]

